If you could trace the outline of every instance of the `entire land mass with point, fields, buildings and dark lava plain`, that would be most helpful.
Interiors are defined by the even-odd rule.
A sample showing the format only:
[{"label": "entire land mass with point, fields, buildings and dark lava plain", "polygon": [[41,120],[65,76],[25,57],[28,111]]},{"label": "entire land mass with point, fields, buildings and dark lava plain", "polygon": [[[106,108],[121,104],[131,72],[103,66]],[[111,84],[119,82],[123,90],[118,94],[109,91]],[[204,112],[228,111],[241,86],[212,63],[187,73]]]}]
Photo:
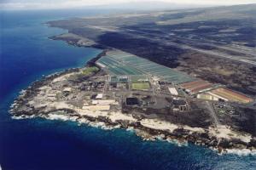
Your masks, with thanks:
[{"label": "entire land mass with point, fields, buildings and dark lava plain", "polygon": [[[255,38],[236,37],[249,31],[233,20],[255,29],[250,13],[255,7],[50,21],[49,26],[69,31],[51,39],[102,53],[82,68],[33,82],[10,113],[132,128],[143,139],[202,144],[219,152],[255,151]],[[211,11],[212,20],[198,17]],[[232,14],[226,27],[218,25],[224,22],[218,12]]]}]

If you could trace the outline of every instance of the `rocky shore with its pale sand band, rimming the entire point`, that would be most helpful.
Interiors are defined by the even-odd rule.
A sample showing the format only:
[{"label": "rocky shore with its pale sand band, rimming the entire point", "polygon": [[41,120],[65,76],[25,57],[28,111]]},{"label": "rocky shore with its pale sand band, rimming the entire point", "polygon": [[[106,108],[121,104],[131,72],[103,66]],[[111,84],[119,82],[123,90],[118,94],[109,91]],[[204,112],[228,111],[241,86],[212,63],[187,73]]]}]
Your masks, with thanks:
[{"label": "rocky shore with its pale sand band, rimming the entire point", "polygon": [[[85,67],[95,65],[96,60],[105,54],[106,50],[103,50],[96,58],[90,59]],[[33,82],[26,90],[20,92],[19,98],[15,99],[15,103],[11,106],[9,112],[13,114],[13,118],[15,119],[42,117],[49,120],[73,121],[79,124],[85,123],[89,126],[102,127],[104,129],[134,129],[135,133],[144,140],[162,139],[166,141],[177,141],[178,144],[189,142],[191,144],[207,146],[212,150],[217,150],[218,153],[241,153],[241,150],[253,155],[255,153],[255,146],[252,143],[253,139],[250,141],[251,137],[248,135],[239,136],[227,127],[220,128],[228,131],[227,133],[237,135],[235,136],[237,138],[234,140],[225,139],[227,137],[226,133],[219,133],[213,127],[212,129],[203,129],[201,127],[181,126],[164,120],[146,119],[132,114],[124,114],[121,111],[113,111],[111,113],[106,111],[82,111],[65,103],[52,103],[50,105],[53,105],[55,110],[49,111],[34,108],[26,112],[16,111],[20,105],[24,105],[24,102],[26,103],[26,99],[37,95],[38,88],[44,87],[49,82],[58,82],[60,77],[67,77],[78,71],[79,68],[68,69],[43,77],[40,81]],[[238,139],[244,139],[244,141]],[[234,150],[239,151],[234,152]]]}]

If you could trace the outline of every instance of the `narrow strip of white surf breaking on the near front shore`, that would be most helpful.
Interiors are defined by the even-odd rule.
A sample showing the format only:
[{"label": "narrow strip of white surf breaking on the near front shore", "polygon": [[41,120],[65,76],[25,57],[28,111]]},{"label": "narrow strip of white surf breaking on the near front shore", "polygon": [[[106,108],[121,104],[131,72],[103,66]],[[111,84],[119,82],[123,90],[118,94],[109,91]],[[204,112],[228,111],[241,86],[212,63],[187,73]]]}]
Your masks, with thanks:
[{"label": "narrow strip of white surf breaking on the near front shore", "polygon": [[[216,151],[218,153],[218,155],[223,155],[223,154],[235,154],[237,156],[256,156],[256,150],[249,150],[249,149],[223,149],[223,150],[219,150],[216,147],[212,147],[212,146],[208,146],[204,143],[193,143],[192,141],[188,141],[185,139],[178,139],[177,137],[166,137],[165,135],[163,135],[163,133],[158,133],[158,134],[153,134],[153,133],[148,133],[145,132],[145,128],[142,130],[140,128],[136,128],[136,127],[122,127],[122,125],[118,124],[109,124],[109,122],[98,122],[98,120],[95,120],[92,117],[87,117],[87,118],[79,118],[76,116],[60,116],[60,115],[55,115],[55,114],[49,114],[48,116],[44,116],[44,115],[38,115],[38,116],[12,116],[13,119],[32,119],[32,118],[36,118],[36,117],[40,117],[40,118],[44,118],[47,120],[56,120],[56,121],[63,121],[63,122],[76,122],[78,123],[78,126],[83,126],[83,125],[87,125],[90,127],[96,127],[96,128],[102,128],[103,130],[113,130],[115,128],[122,128],[126,131],[131,131],[133,133],[135,133],[137,136],[139,136],[141,139],[143,140],[148,140],[148,141],[156,141],[156,140],[161,140],[161,141],[166,141],[168,143],[172,143],[172,144],[176,144],[179,147],[187,147],[188,144],[196,144],[196,145],[201,145],[202,147],[207,147],[213,151]],[[150,129],[148,128],[149,132]],[[152,129],[151,129],[152,130]]]}]

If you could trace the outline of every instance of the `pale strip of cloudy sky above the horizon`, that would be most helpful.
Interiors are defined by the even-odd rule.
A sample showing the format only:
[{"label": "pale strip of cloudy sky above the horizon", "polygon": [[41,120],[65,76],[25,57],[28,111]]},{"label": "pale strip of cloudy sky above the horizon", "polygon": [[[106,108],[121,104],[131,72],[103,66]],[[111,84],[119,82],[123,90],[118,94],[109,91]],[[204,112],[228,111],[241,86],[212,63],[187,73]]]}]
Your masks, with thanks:
[{"label": "pale strip of cloudy sky above the horizon", "polygon": [[116,3],[176,3],[184,5],[234,5],[256,3],[256,0],[0,0],[0,9],[81,8]]}]

